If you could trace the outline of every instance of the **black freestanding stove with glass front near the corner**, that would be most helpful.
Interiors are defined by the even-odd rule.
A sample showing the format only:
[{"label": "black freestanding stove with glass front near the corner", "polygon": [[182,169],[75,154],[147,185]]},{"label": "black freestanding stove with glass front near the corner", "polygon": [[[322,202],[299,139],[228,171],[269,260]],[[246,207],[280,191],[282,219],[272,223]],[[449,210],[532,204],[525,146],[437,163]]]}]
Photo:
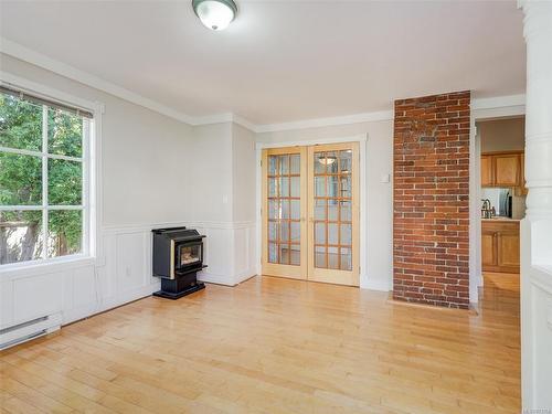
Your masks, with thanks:
[{"label": "black freestanding stove with glass front near the corner", "polygon": [[203,238],[187,227],[156,229],[153,233],[153,276],[161,278],[161,290],[153,296],[178,299],[205,285],[197,274],[203,264]]}]

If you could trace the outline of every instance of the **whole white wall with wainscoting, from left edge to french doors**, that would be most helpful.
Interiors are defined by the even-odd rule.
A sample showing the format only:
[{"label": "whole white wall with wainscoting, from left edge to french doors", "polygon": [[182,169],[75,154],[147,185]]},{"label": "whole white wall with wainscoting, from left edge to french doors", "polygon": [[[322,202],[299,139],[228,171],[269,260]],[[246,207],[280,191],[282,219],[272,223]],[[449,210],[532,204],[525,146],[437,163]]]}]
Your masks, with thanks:
[{"label": "whole white wall with wainscoting, from left edge to french doors", "polygon": [[[159,288],[151,276],[155,227],[189,225],[208,235],[209,267],[200,278],[234,285],[254,274],[254,219],[234,223],[233,217],[232,182],[235,177],[248,184],[245,161],[255,158],[247,131],[231,123],[191,127],[32,64],[0,57],[3,73],[105,105],[97,256],[0,269],[0,329],[46,314],[61,314],[67,323],[150,295]],[[240,151],[235,157],[234,146]],[[234,160],[245,163],[234,168]],[[254,163],[251,168],[254,177]],[[254,209],[254,194],[247,200],[243,187],[236,191],[236,205],[251,201]],[[235,220],[251,219],[252,211],[240,211],[244,215]]]}]

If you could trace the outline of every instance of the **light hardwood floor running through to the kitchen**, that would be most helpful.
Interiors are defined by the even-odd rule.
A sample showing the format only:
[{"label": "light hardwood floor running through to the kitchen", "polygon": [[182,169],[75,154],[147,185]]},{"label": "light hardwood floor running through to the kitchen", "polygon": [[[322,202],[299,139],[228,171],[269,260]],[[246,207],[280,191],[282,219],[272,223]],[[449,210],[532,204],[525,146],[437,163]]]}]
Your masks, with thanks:
[{"label": "light hardwood floor running through to the kitchen", "polygon": [[149,297],[0,354],[0,412],[519,413],[518,275],[478,315],[255,277]]}]

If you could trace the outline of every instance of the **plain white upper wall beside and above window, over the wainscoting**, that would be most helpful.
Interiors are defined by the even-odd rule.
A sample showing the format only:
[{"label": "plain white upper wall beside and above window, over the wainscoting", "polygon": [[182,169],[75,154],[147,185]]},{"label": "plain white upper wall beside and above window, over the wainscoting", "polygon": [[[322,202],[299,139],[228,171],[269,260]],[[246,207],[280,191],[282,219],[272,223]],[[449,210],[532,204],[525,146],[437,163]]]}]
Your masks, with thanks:
[{"label": "plain white upper wall beside and above window, over the wainscoting", "polygon": [[[136,225],[182,220],[188,183],[174,171],[193,159],[189,125],[1,55],[1,71],[60,92],[105,104],[102,118],[103,224]],[[187,189],[187,188],[184,188]],[[169,202],[170,194],[170,202]],[[184,210],[183,210],[184,209]]]}]

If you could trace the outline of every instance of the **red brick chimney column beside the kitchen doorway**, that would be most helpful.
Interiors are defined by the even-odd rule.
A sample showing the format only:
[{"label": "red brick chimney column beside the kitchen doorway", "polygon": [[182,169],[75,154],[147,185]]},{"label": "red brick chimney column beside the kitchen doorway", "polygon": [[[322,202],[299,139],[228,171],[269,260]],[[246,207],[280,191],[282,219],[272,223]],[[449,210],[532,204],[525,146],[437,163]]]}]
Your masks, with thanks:
[{"label": "red brick chimney column beside the kitchen doorway", "polygon": [[395,102],[395,299],[469,305],[469,92]]}]

